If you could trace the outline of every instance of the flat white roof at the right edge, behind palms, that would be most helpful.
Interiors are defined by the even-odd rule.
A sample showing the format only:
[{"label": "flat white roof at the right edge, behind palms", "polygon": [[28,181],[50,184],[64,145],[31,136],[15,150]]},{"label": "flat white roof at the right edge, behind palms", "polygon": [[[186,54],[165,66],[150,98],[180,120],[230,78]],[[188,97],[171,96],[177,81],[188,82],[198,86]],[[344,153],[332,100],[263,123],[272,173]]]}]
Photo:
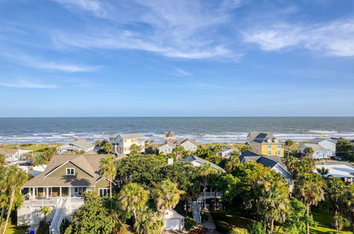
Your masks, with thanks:
[{"label": "flat white roof at the right edge, behind palms", "polygon": [[[354,167],[349,162],[318,162],[316,168],[324,167],[329,169],[329,174],[326,177],[353,178]],[[319,174],[316,169],[315,173]]]}]

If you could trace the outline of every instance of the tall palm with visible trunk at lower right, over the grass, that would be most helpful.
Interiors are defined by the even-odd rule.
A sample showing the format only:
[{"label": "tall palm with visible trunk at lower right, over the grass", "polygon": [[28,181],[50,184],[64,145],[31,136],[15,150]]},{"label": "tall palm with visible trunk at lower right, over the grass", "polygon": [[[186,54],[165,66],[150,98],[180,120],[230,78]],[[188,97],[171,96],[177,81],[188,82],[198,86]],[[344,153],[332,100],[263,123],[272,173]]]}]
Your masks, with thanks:
[{"label": "tall palm with visible trunk at lower right, over the grass", "polygon": [[[293,193],[306,206],[308,216],[309,207],[324,200],[324,186],[324,180],[318,174],[304,173],[297,179]],[[309,222],[306,223],[306,231],[309,234]]]}]

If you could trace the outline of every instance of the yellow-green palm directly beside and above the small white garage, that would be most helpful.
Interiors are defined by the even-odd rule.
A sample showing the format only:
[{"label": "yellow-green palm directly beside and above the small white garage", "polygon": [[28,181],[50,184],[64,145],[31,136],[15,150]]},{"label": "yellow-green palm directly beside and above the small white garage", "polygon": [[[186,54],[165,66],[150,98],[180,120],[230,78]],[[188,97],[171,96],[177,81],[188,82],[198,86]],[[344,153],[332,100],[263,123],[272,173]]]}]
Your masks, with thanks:
[{"label": "yellow-green palm directly beside and above the small white garage", "polygon": [[162,221],[165,219],[166,209],[174,208],[184,191],[177,188],[177,184],[165,179],[154,189],[153,196],[156,208],[162,213]]}]

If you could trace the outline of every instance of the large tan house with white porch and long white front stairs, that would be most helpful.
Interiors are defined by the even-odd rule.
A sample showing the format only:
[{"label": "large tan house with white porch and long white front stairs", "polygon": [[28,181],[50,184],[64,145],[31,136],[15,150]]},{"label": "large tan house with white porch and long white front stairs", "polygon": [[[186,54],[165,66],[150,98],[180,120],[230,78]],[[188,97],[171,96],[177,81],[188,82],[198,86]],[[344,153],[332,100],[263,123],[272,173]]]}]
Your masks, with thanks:
[{"label": "large tan house with white porch and long white front stairs", "polygon": [[[52,212],[47,221],[58,230],[64,217],[69,218],[84,204],[84,192],[109,195],[109,182],[100,174],[100,161],[106,155],[53,155],[44,172],[23,185],[25,201],[18,208],[18,225],[40,223],[43,206]],[[57,232],[59,233],[59,232]]]}]

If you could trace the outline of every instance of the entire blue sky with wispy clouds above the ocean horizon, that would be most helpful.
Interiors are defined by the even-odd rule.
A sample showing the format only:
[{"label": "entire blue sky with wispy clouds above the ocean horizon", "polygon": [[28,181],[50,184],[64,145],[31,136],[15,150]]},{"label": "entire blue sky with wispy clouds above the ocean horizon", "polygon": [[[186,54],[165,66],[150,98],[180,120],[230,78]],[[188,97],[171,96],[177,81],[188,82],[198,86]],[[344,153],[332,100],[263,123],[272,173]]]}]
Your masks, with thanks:
[{"label": "entire blue sky with wispy clouds above the ocean horizon", "polygon": [[0,116],[354,116],[352,0],[0,0]]}]

